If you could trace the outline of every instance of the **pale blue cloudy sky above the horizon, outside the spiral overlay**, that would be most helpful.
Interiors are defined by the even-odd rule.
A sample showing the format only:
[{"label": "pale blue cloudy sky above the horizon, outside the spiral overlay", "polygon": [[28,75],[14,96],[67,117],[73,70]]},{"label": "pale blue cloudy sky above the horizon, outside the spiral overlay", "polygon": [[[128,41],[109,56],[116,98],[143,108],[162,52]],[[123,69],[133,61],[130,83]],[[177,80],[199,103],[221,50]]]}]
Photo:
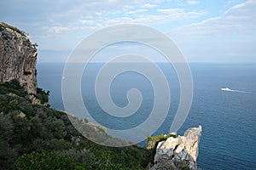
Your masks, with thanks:
[{"label": "pale blue cloudy sky above the horizon, outside the spiral overlay", "polygon": [[65,62],[106,26],[164,32],[189,62],[256,62],[256,0],[2,0],[0,21],[38,43],[38,62]]}]

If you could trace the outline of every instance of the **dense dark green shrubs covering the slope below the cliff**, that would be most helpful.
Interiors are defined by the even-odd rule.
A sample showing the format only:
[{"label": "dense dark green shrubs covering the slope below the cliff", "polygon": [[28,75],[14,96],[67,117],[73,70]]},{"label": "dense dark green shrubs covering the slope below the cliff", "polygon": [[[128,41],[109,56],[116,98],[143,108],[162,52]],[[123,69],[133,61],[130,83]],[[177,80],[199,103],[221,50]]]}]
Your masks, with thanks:
[{"label": "dense dark green shrubs covering the slope below the cliff", "polygon": [[[31,94],[16,81],[0,85],[0,167],[1,169],[145,169],[152,150],[137,146],[111,148],[81,136],[67,114],[49,105],[48,94],[38,88],[33,104]],[[87,122],[94,137],[117,141],[105,129]],[[93,127],[93,128],[92,128]],[[94,131],[93,131],[94,129]]]}]

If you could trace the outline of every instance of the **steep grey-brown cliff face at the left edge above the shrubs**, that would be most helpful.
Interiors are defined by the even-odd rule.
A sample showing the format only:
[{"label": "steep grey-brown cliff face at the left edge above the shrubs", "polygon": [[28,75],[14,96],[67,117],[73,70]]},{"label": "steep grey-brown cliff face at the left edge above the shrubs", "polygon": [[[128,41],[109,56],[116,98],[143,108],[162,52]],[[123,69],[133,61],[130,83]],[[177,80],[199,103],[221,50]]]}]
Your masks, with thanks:
[{"label": "steep grey-brown cliff face at the left edge above the shrubs", "polygon": [[23,31],[0,23],[0,83],[16,79],[27,93],[37,93],[38,49]]}]

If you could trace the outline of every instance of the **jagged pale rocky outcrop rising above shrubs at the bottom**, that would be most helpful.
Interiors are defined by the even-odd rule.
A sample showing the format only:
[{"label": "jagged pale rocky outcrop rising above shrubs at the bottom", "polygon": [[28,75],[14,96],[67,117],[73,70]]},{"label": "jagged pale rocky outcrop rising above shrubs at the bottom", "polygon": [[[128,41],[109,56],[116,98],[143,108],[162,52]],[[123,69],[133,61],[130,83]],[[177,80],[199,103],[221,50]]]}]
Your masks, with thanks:
[{"label": "jagged pale rocky outcrop rising above shrubs at the bottom", "polygon": [[170,137],[157,145],[154,156],[156,169],[197,169],[198,144],[201,126],[189,128],[183,136]]}]

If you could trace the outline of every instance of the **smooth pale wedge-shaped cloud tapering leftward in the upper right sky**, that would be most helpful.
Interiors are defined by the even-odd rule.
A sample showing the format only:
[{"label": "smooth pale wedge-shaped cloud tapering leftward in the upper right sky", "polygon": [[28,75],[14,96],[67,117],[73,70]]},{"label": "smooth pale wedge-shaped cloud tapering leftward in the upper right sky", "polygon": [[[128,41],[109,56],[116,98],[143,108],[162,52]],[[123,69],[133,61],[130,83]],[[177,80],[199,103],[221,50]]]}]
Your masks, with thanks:
[{"label": "smooth pale wedge-shaped cloud tapering leftward in the upper right sky", "polygon": [[184,36],[256,33],[256,1],[247,1],[227,10],[222,16],[170,31]]}]

